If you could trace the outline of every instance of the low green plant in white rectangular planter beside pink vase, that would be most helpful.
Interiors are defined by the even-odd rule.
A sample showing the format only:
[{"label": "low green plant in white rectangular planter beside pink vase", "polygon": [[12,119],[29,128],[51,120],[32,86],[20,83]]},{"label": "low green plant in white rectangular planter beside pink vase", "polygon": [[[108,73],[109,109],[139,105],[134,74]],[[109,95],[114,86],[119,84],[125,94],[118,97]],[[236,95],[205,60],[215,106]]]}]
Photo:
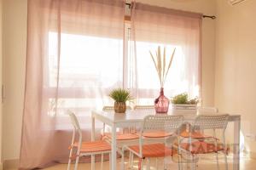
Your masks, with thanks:
[{"label": "low green plant in white rectangular planter beside pink vase", "polygon": [[171,101],[173,108],[177,110],[196,110],[196,105],[198,104],[198,99],[189,99],[187,93],[177,94],[171,99]]}]

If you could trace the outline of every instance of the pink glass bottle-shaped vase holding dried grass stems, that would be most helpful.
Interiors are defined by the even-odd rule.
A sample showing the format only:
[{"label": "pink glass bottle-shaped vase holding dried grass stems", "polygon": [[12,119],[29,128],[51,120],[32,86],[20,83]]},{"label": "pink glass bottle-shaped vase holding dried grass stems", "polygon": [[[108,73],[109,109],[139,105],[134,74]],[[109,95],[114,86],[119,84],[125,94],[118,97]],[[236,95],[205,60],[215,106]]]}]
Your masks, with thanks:
[{"label": "pink glass bottle-shaped vase holding dried grass stems", "polygon": [[154,109],[156,113],[167,113],[169,109],[169,99],[164,95],[164,88],[160,88],[160,96],[154,99]]}]

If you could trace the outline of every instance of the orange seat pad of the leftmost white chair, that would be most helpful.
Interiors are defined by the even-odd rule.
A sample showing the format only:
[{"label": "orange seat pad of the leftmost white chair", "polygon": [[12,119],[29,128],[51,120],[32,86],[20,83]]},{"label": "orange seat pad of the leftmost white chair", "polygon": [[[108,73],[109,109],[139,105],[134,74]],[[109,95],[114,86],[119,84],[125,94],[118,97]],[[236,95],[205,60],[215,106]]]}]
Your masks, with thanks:
[{"label": "orange seat pad of the leftmost white chair", "polygon": [[[73,147],[78,147],[79,143],[75,142],[73,144]],[[111,150],[110,144],[104,140],[98,140],[93,142],[83,142],[81,145],[80,152],[83,153],[90,153],[90,152],[102,152],[102,151],[108,151]]]}]

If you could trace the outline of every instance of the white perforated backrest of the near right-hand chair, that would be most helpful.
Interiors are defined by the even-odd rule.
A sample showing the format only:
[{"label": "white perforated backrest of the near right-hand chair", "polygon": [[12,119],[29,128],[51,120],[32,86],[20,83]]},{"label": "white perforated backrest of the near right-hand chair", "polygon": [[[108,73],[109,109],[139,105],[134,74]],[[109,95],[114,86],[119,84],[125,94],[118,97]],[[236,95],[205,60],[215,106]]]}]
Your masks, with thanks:
[{"label": "white perforated backrest of the near right-hand chair", "polygon": [[228,114],[224,115],[201,115],[195,118],[194,127],[204,129],[223,129],[228,125]]}]

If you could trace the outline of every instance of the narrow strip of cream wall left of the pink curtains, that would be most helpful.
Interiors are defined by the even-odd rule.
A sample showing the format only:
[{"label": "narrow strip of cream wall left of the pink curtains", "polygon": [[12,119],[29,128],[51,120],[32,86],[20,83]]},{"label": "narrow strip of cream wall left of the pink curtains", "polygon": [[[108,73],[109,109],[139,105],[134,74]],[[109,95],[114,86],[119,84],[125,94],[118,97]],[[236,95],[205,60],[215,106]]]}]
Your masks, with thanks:
[{"label": "narrow strip of cream wall left of the pink curtains", "polygon": [[20,156],[26,63],[26,0],[3,0],[3,159]]}]

